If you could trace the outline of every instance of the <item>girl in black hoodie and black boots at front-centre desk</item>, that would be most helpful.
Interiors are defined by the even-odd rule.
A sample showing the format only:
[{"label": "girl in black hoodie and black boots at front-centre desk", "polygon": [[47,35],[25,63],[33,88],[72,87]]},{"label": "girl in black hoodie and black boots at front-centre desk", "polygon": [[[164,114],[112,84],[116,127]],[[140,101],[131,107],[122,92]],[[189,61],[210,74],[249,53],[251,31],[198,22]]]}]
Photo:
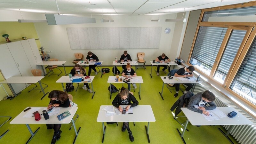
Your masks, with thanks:
[{"label": "girl in black hoodie and black boots at front-centre desk", "polygon": [[[116,95],[115,99],[112,101],[112,105],[118,108],[120,112],[123,112],[123,108],[120,105],[127,105],[126,111],[128,111],[129,108],[139,105],[139,101],[136,100],[136,98],[131,93],[129,93],[127,89],[122,87],[120,92]],[[127,129],[129,133],[129,139],[131,141],[134,141],[134,137],[132,136],[132,131],[130,130],[130,127],[129,127],[129,122],[123,123],[122,132],[124,132],[125,129]]]}]

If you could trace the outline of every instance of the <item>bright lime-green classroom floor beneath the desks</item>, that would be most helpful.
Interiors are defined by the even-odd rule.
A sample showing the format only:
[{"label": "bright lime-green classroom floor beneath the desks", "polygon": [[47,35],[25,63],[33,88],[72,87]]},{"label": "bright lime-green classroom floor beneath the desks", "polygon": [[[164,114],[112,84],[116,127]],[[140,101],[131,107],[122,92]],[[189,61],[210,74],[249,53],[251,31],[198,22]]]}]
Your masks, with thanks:
[{"label": "bright lime-green classroom floor beneath the desks", "polygon": [[[67,73],[70,72],[72,67],[65,67]],[[77,137],[76,143],[101,143],[102,140],[102,123],[97,122],[97,116],[99,112],[99,108],[101,105],[111,105],[112,100],[116,96],[117,93],[112,94],[111,100],[110,92],[108,91],[109,84],[107,83],[108,76],[113,76],[112,68],[113,67],[102,67],[102,68],[110,68],[110,73],[106,73],[100,78],[99,73],[95,76],[93,80],[93,88],[96,91],[93,99],[92,93],[85,91],[83,89],[78,89],[77,92],[72,91],[69,94],[73,95],[73,101],[78,104],[77,114],[79,118],[76,121],[76,127],[81,127],[80,133]],[[134,67],[132,67],[134,68]],[[60,67],[63,71],[63,67]],[[88,67],[86,68],[88,71]],[[119,70],[122,67],[118,67]],[[137,75],[143,77],[144,83],[141,84],[141,100],[139,100],[139,84],[137,84],[137,89],[134,92],[135,98],[139,101],[140,105],[151,105],[156,122],[151,122],[149,125],[149,137],[150,142],[155,144],[182,144],[182,140],[176,130],[176,128],[183,128],[178,122],[173,119],[170,108],[172,104],[179,98],[174,98],[173,94],[175,92],[175,87],[172,89],[172,93],[164,86],[163,97],[162,100],[159,92],[162,90],[162,80],[160,76],[166,76],[163,72],[160,72],[160,76],[156,76],[156,73],[152,72],[153,78],[150,77],[149,73],[151,70],[151,66],[147,66],[144,70],[143,68],[137,69]],[[58,69],[54,69],[54,74],[59,73]],[[62,90],[62,86],[60,83],[55,83],[61,76],[64,76],[64,71],[60,76],[52,74],[51,76],[45,76],[42,79],[43,83],[48,84],[48,87],[45,89],[45,92],[51,92],[52,90]],[[91,73],[94,76],[94,73]],[[74,84],[76,87],[76,84]],[[122,84],[114,84],[117,88],[121,88]],[[80,85],[82,87],[82,85]],[[91,85],[90,85],[91,87]],[[124,84],[124,87],[127,88],[127,84]],[[19,96],[14,98],[13,100],[2,100],[0,101],[1,111],[0,116],[12,116],[12,119],[15,118],[22,110],[26,107],[43,107],[49,104],[48,95],[44,97],[43,100],[40,100],[43,96],[42,92],[39,90],[33,90],[28,93],[28,91],[32,88],[29,86],[24,89]],[[181,86],[180,89],[184,91],[185,87]],[[179,96],[182,95],[182,92],[179,92]],[[42,113],[42,112],[40,112]],[[180,113],[179,115],[182,115]],[[12,120],[11,119],[11,120]],[[4,122],[5,118],[0,118],[0,123]],[[12,144],[12,143],[26,143],[28,138],[30,137],[30,133],[25,124],[9,124],[8,121],[0,128],[0,135],[4,133],[7,129],[10,131],[0,139],[1,144]],[[185,119],[184,119],[185,121]],[[62,124],[61,126],[61,138],[56,142],[56,144],[60,143],[73,143],[75,132],[72,128],[69,131],[69,127],[71,124]],[[106,124],[105,124],[106,125]],[[137,122],[135,126],[130,123],[130,129],[134,136],[134,141],[132,143],[148,143],[147,135],[145,132],[145,125],[147,122]],[[34,138],[29,142],[30,144],[40,143],[40,144],[49,144],[52,140],[53,130],[47,130],[45,124],[31,124],[31,129],[35,131],[37,127],[40,127],[39,131],[36,133]],[[200,143],[208,143],[208,144],[228,144],[229,141],[221,134],[221,132],[217,128],[221,128],[226,132],[226,130],[222,126],[201,126],[196,127],[191,124],[188,124],[188,131],[185,132],[184,139],[187,144],[200,144]],[[119,123],[118,126],[116,124],[109,124],[106,128],[106,134],[104,143],[112,144],[112,143],[131,143],[128,137],[127,130],[125,132],[121,131],[122,123]],[[229,136],[234,143],[238,143],[232,136]]]}]

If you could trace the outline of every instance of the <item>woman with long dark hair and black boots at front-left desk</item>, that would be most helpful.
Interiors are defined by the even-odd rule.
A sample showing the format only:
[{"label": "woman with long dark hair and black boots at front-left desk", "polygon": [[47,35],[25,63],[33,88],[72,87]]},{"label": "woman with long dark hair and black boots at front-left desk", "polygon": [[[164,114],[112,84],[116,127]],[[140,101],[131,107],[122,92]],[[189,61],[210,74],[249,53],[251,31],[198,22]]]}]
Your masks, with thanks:
[{"label": "woman with long dark hair and black boots at front-left desk", "polygon": [[[51,107],[63,107],[63,108],[69,107],[70,102],[68,99],[68,95],[70,94],[67,94],[66,92],[63,92],[63,91],[53,90],[52,92],[49,93],[49,96],[48,96],[48,98],[50,98],[51,100],[47,109]],[[61,124],[46,124],[46,127],[47,129],[54,130],[51,144],[55,144],[56,140],[60,139]]]}]

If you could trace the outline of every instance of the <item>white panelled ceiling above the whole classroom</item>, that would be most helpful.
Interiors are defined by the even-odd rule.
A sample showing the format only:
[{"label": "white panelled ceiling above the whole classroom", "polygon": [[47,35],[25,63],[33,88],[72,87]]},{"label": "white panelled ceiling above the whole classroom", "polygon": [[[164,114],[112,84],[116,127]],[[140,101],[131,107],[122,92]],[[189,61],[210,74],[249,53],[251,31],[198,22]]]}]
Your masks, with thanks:
[{"label": "white panelled ceiling above the whole classroom", "polygon": [[[64,15],[162,15],[252,0],[0,0],[0,10]],[[20,9],[20,10],[19,10]]]}]

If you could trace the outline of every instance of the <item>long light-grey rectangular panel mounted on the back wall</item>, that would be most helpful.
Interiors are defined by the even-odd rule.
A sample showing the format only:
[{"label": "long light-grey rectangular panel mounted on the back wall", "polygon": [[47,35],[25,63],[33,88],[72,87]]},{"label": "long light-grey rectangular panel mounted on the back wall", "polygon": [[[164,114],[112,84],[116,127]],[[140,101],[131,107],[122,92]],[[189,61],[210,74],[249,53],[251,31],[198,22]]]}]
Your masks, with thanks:
[{"label": "long light-grey rectangular panel mounted on the back wall", "polygon": [[71,49],[158,49],[162,27],[67,28]]}]

